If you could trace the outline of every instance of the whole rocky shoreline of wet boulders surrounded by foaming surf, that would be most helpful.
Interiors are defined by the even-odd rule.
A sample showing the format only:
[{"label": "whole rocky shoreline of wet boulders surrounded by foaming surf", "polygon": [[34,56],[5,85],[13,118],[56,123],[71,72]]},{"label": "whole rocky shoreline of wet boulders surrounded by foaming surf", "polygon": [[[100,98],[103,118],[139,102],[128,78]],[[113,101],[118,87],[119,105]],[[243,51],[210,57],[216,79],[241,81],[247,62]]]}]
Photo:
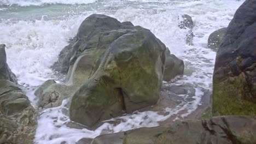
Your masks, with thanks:
[{"label": "whole rocky shoreline of wet boulders surrounded by foaming surf", "polygon": [[[171,81],[183,75],[184,62],[152,32],[131,22],[100,14],[87,17],[52,66],[66,80],[47,80],[36,90],[39,109],[19,88],[5,45],[0,45],[0,143],[34,143],[38,112],[65,99],[70,128],[93,130],[102,121],[135,111],[167,117],[158,127],[77,143],[256,143],[255,11],[256,1],[245,1],[227,28],[210,35],[208,47],[217,51],[213,92],[200,88],[202,104],[189,116],[182,109],[162,111],[194,99],[195,87]],[[181,19],[179,27],[190,29],[186,41],[193,45],[193,21],[189,15]],[[182,115],[183,121],[174,122]]]}]

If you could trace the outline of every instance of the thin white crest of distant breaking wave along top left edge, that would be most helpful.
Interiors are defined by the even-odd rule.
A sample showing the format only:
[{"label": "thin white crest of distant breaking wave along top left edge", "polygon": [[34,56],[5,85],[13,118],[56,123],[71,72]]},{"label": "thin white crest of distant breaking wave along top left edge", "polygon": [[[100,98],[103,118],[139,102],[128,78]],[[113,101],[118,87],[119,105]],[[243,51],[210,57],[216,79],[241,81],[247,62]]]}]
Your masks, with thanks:
[{"label": "thin white crest of distant breaking wave along top left edge", "polygon": [[97,0],[1,0],[0,5],[19,5],[26,7],[30,5],[44,5],[44,4],[89,4]]}]

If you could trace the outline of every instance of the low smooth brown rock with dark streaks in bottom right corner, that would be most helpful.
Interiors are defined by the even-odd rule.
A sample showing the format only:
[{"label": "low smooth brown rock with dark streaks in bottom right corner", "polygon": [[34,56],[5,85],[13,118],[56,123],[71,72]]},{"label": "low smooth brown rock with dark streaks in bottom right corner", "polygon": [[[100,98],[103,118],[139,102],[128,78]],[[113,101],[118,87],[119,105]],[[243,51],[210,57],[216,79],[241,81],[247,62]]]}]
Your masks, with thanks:
[{"label": "low smooth brown rock with dark streaks in bottom right corner", "polygon": [[255,143],[256,119],[242,116],[213,117],[172,124],[157,143]]}]

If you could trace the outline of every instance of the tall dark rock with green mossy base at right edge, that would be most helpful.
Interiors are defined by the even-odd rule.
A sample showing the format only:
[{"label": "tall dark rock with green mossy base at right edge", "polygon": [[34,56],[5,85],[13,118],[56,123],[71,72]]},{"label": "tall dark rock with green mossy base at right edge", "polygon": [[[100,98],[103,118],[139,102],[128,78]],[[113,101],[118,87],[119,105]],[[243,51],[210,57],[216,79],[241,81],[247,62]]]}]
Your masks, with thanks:
[{"label": "tall dark rock with green mossy base at right edge", "polygon": [[256,116],[256,1],[237,9],[219,46],[213,74],[213,115]]}]

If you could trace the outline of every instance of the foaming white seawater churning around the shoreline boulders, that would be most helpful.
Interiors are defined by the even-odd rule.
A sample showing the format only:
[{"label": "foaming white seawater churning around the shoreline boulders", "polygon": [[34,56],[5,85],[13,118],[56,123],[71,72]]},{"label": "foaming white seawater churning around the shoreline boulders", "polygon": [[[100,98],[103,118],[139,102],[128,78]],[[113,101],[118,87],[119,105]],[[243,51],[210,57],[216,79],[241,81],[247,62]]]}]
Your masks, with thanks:
[{"label": "foaming white seawater churning around the shoreline boulders", "polygon": [[[15,4],[40,6],[19,7]],[[201,89],[212,89],[216,52],[207,49],[208,35],[228,26],[241,4],[242,1],[235,0],[0,0],[0,44],[7,45],[9,67],[18,76],[19,83],[35,106],[37,99],[33,90],[45,80],[56,79],[50,66],[57,61],[57,55],[67,45],[68,39],[77,33],[80,23],[93,13],[113,16],[119,21],[131,21],[134,25],[150,29],[169,47],[171,53],[185,62],[185,75],[177,77],[175,85],[190,83],[196,88],[193,101],[182,103],[175,109],[166,107],[165,111],[169,112],[167,116],[152,111],[135,112],[112,119],[122,119],[118,125],[106,122],[95,131],[67,128],[64,123],[69,118],[61,112],[67,109],[66,101],[63,101],[62,106],[46,109],[40,114],[35,142],[75,143],[83,137],[93,138],[101,133],[154,127],[179,111],[186,111],[179,117],[188,116],[201,104]],[[193,18],[194,46],[185,44],[186,30],[177,27],[177,16],[182,14],[189,14]]]}]

